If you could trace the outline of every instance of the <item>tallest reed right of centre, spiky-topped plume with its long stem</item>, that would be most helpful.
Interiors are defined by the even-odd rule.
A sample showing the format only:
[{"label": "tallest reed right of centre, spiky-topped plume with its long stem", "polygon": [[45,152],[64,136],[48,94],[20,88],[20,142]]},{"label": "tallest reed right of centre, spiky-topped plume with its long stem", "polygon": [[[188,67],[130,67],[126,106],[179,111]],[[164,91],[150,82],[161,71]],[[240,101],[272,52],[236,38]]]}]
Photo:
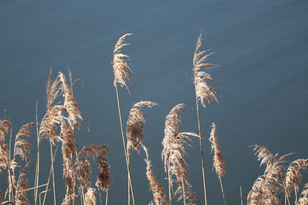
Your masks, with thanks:
[{"label": "tallest reed right of centre, spiky-topped plume with its long stem", "polygon": [[201,149],[201,162],[202,162],[202,172],[203,172],[203,183],[204,183],[204,194],[205,194],[205,205],[207,205],[207,195],[206,195],[206,182],[205,182],[205,171],[204,171],[204,160],[203,160],[203,149],[202,149],[202,138],[201,138],[201,127],[200,127],[200,118],[199,118],[199,105],[198,101],[201,101],[201,105],[205,108],[205,102],[208,101],[210,103],[211,100],[216,101],[218,103],[216,94],[219,94],[216,88],[213,88],[207,84],[207,81],[211,81],[213,84],[218,85],[215,81],[213,81],[211,75],[206,73],[205,71],[201,71],[201,69],[211,69],[216,68],[217,65],[207,63],[208,57],[212,55],[212,53],[205,54],[209,50],[199,51],[201,46],[201,35],[198,38],[198,42],[196,45],[196,50],[193,57],[193,74],[194,79],[193,83],[195,85],[196,92],[196,104],[197,104],[197,115],[198,115],[198,126],[199,126],[199,136],[200,136],[200,149]]}]

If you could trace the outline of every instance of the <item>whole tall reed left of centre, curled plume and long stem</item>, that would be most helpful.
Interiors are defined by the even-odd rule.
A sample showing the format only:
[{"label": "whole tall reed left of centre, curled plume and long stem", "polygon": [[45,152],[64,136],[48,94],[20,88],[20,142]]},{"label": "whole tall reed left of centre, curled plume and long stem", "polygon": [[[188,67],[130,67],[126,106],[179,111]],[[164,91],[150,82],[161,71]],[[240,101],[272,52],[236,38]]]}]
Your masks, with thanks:
[{"label": "whole tall reed left of centre, curled plume and long stem", "polygon": [[[118,100],[118,108],[119,108],[119,116],[120,116],[120,125],[121,125],[121,132],[122,132],[122,139],[123,139],[123,146],[124,146],[124,153],[125,153],[125,159],[126,159],[126,165],[127,165],[127,171],[128,171],[128,190],[131,189],[132,191],[132,199],[133,203],[135,205],[135,196],[134,196],[134,190],[132,186],[132,178],[131,173],[129,170],[129,161],[128,161],[128,155],[126,150],[126,144],[125,144],[125,137],[124,137],[124,131],[123,131],[123,125],[122,125],[122,117],[121,117],[121,110],[120,110],[120,101],[119,101],[119,94],[118,94],[118,86],[117,83],[120,83],[121,87],[126,87],[128,90],[128,93],[130,94],[130,91],[128,89],[128,86],[126,84],[126,79],[131,83],[132,82],[132,70],[129,68],[128,64],[131,64],[129,61],[128,55],[125,55],[122,53],[121,48],[125,45],[129,44],[122,44],[124,39],[126,39],[128,36],[132,34],[125,34],[118,42],[115,44],[114,50],[113,50],[113,73],[115,75],[115,80],[113,85],[116,89],[116,96]],[[128,204],[130,204],[130,191],[128,191]]]}]

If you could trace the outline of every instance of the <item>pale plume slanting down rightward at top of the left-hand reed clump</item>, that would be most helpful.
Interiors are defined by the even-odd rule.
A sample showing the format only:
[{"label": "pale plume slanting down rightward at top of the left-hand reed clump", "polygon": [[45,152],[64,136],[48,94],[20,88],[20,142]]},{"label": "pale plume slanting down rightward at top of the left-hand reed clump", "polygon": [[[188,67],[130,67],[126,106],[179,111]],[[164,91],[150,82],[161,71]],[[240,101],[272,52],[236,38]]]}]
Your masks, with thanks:
[{"label": "pale plume slanting down rightward at top of the left-hand reed clump", "polygon": [[71,88],[67,85],[67,81],[63,73],[59,72],[58,77],[60,78],[60,81],[62,82],[60,89],[62,90],[63,97],[64,97],[64,106],[66,108],[66,111],[68,113],[67,122],[70,126],[73,128],[78,128],[81,125],[81,121],[83,121],[89,130],[89,124],[87,120],[84,119],[83,116],[80,114],[80,108],[73,96],[73,92]]}]

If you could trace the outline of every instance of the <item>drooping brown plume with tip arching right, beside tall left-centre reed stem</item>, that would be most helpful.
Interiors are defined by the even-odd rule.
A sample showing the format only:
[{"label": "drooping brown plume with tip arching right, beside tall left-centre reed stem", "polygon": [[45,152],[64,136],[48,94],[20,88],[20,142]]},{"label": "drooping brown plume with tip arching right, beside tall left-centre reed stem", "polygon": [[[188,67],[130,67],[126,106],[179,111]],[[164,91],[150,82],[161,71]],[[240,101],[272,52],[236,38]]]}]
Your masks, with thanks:
[{"label": "drooping brown plume with tip arching right, beside tall left-centre reed stem", "polygon": [[145,117],[142,112],[144,106],[151,108],[152,106],[157,105],[151,101],[141,101],[132,107],[129,112],[127,125],[126,125],[126,136],[127,136],[127,154],[130,155],[129,151],[132,148],[137,150],[138,154],[140,152],[140,146],[143,146],[144,140],[144,123]]}]

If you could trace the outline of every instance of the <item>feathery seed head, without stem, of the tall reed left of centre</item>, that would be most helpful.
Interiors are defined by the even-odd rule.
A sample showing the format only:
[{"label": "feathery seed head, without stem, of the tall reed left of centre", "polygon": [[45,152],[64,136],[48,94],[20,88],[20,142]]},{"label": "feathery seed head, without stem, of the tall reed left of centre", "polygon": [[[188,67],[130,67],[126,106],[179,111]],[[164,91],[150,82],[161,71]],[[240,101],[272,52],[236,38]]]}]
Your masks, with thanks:
[{"label": "feathery seed head, without stem, of the tall reed left of centre", "polygon": [[129,61],[128,55],[122,53],[121,48],[125,45],[129,44],[122,44],[124,39],[127,38],[132,34],[125,34],[118,42],[115,44],[115,48],[113,50],[113,73],[115,75],[114,86],[116,83],[120,83],[121,87],[126,87],[129,92],[128,86],[126,84],[126,79],[131,83],[132,82],[132,70],[129,68],[128,64],[131,64]]}]

